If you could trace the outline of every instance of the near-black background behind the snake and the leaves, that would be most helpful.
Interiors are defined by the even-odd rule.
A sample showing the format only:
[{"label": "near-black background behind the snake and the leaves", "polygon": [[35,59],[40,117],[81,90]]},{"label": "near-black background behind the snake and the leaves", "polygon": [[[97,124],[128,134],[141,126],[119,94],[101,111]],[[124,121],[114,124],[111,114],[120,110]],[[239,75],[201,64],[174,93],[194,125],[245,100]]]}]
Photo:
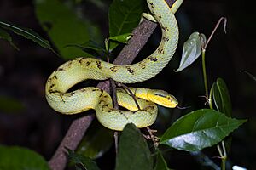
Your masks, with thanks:
[{"label": "near-black background behind the snake and the leaves", "polygon": [[[110,1],[106,3],[109,4]],[[102,38],[108,37],[108,8],[99,11],[93,3],[84,1],[82,4],[84,15],[101,26]],[[176,56],[157,77],[141,84],[172,92],[181,105],[190,105],[191,111],[207,107],[204,105],[205,100],[199,97],[204,95],[201,59],[182,72],[174,73],[173,70],[178,67],[183,42],[189,34],[199,31],[209,37],[218,19],[225,16],[228,20],[227,34],[224,34],[221,24],[207,48],[207,76],[210,87],[218,77],[224,79],[230,90],[233,117],[248,119],[248,122],[234,133],[229,156],[231,164],[248,169],[256,168],[256,82],[240,71],[248,71],[256,76],[256,10],[253,7],[253,1],[185,0],[177,12],[181,43]],[[38,24],[30,0],[0,0],[0,20],[32,28],[47,38]],[[143,48],[142,54],[150,54],[152,48],[156,48],[157,44],[152,40],[159,38],[159,35],[160,33],[156,32],[150,38],[151,42],[148,43],[148,48]],[[20,51],[11,47],[9,42],[0,40],[0,95],[20,100],[25,109],[18,112],[0,111],[0,144],[25,146],[38,151],[49,160],[70,122],[76,118],[56,114],[49,108],[44,97],[47,77],[64,60],[32,41],[14,34],[12,36]],[[172,121],[189,111],[172,111]],[[218,158],[213,158],[218,156],[218,152],[212,148],[209,156],[219,163]],[[107,155],[112,156],[112,153],[113,149]],[[171,157],[170,167],[199,168],[199,164],[187,152],[176,150],[172,152]],[[104,159],[108,158],[103,157],[98,161],[103,164]]]}]

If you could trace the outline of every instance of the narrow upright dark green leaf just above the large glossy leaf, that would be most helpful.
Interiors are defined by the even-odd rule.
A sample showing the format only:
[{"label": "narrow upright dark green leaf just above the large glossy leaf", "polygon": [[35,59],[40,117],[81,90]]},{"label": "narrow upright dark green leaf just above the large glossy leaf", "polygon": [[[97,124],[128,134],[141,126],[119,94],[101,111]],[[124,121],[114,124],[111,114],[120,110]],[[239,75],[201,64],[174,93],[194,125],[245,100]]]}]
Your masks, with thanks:
[{"label": "narrow upright dark green leaf just above the large glossy leaf", "polygon": [[232,105],[229,90],[222,78],[218,78],[217,82],[212,84],[212,98],[217,111],[224,113],[226,116],[232,115]]}]

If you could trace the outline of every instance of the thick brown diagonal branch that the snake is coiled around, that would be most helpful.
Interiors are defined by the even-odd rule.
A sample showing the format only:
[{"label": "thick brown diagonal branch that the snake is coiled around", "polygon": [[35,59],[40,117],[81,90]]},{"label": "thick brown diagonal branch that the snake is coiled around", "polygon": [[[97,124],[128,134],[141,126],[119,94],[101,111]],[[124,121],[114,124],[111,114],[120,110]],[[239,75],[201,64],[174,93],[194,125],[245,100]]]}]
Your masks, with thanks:
[{"label": "thick brown diagonal branch that the snake is coiled around", "polygon": [[[166,1],[170,6],[173,4],[173,0]],[[148,41],[148,37],[153,33],[157,24],[149,20],[143,20],[134,31],[132,31],[133,37],[129,41],[129,44],[123,48],[119,56],[114,60],[114,64],[117,65],[129,65],[136,58],[139,51],[143,48]],[[101,88],[109,93],[109,81],[100,82],[97,88]],[[94,119],[94,115],[87,115],[74,120],[69,127],[65,137],[62,139],[61,144],[55,151],[54,156],[49,160],[49,167],[52,170],[63,170],[67,165],[66,150],[64,147],[70,150],[76,150],[79,142],[87,131],[90,123]]]}]

